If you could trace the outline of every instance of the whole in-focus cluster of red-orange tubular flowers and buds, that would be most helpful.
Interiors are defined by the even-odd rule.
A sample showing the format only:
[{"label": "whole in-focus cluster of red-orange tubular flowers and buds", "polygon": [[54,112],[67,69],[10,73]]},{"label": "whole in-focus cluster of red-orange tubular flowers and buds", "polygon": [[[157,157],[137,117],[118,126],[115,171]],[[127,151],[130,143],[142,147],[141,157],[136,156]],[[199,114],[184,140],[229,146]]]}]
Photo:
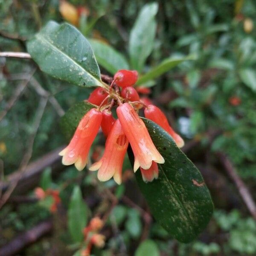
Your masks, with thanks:
[{"label": "whole in-focus cluster of red-orange tubular flowers and buds", "polygon": [[[144,108],[145,117],[167,131],[178,147],[184,142],[169,125],[164,113],[147,97],[140,98],[138,91],[141,93],[143,87],[132,87],[137,76],[135,70],[119,70],[108,90],[99,87],[90,94],[87,101],[98,107],[84,115],[69,145],[59,153],[64,165],[75,164],[78,170],[84,169],[90,147],[101,127],[106,137],[105,151],[102,158],[89,167],[91,171],[98,170],[99,180],[113,177],[116,183],[122,182],[122,164],[129,143],[134,153],[134,172],[140,168],[145,182],[158,177],[157,163],[162,164],[165,160],[138,116],[139,109]],[[111,112],[115,105],[118,119]]]}]

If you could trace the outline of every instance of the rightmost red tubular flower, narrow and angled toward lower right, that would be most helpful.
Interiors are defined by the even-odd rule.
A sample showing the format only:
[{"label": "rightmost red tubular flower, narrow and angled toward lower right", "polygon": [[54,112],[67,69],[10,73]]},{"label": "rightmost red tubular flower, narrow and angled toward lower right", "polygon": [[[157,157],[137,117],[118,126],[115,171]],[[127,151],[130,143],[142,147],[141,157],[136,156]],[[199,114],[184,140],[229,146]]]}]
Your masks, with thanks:
[{"label": "rightmost red tubular flower, narrow and angled toward lower right", "polygon": [[165,114],[160,110],[160,108],[157,108],[157,106],[154,106],[154,105],[148,105],[148,107],[145,108],[144,113],[146,118],[157,123],[165,131],[167,131],[172,136],[173,140],[175,141],[175,143],[179,148],[183,147],[184,145],[183,139],[180,137],[180,135],[175,133],[175,131],[169,125]]}]

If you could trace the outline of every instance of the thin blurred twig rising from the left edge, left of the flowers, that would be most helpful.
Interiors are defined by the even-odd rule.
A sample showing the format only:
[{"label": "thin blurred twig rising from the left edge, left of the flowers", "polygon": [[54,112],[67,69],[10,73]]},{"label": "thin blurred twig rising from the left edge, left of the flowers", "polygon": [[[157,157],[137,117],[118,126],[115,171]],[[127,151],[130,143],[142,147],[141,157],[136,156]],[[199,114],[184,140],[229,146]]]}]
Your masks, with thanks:
[{"label": "thin blurred twig rising from the left edge, left of the flowers", "polygon": [[29,143],[28,143],[28,149],[26,151],[26,153],[23,156],[23,159],[21,160],[20,166],[19,166],[19,177],[17,180],[14,181],[14,183],[12,183],[9,188],[7,189],[7,191],[3,194],[2,198],[0,198],[0,209],[1,207],[6,203],[6,201],[9,199],[9,197],[11,196],[13,190],[15,189],[15,187],[17,186],[17,183],[19,182],[20,178],[23,176],[23,174],[26,172],[26,167],[29,163],[29,160],[32,157],[32,152],[33,152],[33,145],[34,145],[34,140],[35,140],[35,135],[37,134],[43,113],[44,113],[44,109],[47,105],[47,98],[41,98],[41,101],[39,102],[39,106],[38,106],[38,110],[35,113],[35,122],[34,122],[34,132],[32,134],[32,136],[29,138]]}]

